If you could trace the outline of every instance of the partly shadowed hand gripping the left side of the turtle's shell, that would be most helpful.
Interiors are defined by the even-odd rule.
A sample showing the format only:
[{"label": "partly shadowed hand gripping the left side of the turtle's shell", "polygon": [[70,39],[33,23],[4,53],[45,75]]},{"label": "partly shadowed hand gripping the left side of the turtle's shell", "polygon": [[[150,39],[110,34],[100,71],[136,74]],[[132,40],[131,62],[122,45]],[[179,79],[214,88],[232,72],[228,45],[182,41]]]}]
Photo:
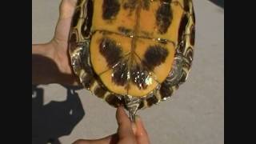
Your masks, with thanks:
[{"label": "partly shadowed hand gripping the left side of the turtle's shell", "polygon": [[32,45],[32,84],[59,83],[78,86],[68,54],[70,24],[77,0],[62,0],[54,38]]}]

